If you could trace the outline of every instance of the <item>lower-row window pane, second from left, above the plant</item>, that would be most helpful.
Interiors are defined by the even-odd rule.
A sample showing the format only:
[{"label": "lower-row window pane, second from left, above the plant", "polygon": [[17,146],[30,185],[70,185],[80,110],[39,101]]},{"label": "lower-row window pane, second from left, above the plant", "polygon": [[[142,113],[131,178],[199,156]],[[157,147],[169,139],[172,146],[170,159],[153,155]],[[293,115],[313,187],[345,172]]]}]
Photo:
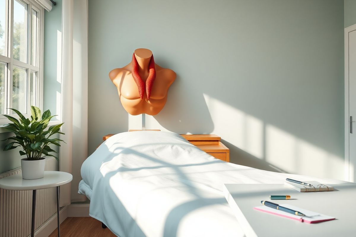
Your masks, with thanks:
[{"label": "lower-row window pane, second from left, above the plant", "polygon": [[12,107],[26,113],[26,69],[14,66],[12,70]]}]

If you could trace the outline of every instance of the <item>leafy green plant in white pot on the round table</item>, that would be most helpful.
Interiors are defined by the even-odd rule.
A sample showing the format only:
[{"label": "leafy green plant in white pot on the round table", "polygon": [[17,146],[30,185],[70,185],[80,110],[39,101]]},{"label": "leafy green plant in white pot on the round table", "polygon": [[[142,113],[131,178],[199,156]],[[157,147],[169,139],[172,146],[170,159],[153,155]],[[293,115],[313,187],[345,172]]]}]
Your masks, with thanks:
[{"label": "leafy green plant in white pot on the round table", "polygon": [[35,106],[31,106],[31,120],[25,118],[16,109],[11,110],[19,115],[19,120],[4,114],[12,122],[7,124],[5,128],[15,134],[15,136],[5,139],[12,141],[4,147],[4,151],[21,146],[20,155],[26,156],[26,158],[21,159],[22,178],[43,178],[46,163],[45,156],[52,156],[58,160],[56,156],[49,154],[49,152],[57,153],[49,145],[61,146],[58,142],[63,140],[50,137],[56,133],[64,134],[59,131],[63,123],[49,126],[46,129],[49,120],[56,116],[51,116],[49,109],[43,112],[41,117],[41,110]]}]

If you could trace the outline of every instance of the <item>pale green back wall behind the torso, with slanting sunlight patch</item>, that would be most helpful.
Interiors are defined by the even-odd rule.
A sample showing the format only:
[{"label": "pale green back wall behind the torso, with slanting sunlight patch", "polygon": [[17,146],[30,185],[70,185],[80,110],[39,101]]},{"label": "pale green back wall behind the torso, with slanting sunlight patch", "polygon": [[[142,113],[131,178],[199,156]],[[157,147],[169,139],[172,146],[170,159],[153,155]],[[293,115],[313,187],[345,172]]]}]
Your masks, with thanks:
[{"label": "pale green back wall behind the torso, with slanting sunlight patch", "polygon": [[89,0],[89,154],[129,127],[109,71],[148,48],[177,79],[147,129],[216,133],[231,162],[343,179],[343,12],[334,0]]}]

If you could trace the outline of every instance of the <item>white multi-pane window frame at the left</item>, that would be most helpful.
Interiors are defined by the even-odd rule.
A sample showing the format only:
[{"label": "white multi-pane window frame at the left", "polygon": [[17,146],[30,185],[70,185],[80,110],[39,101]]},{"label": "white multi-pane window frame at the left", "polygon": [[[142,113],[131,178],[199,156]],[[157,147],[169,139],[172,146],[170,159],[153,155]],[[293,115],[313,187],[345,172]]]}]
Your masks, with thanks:
[{"label": "white multi-pane window frame at the left", "polygon": [[[43,50],[44,50],[44,17],[45,10],[43,7],[37,4],[35,0],[18,0],[19,2],[23,2],[27,4],[27,63],[23,63],[22,61],[18,61],[13,58],[13,36],[14,36],[14,1],[15,0],[6,0],[6,9],[9,9],[6,14],[6,19],[9,19],[5,25],[6,39],[5,45],[7,45],[5,49],[5,55],[0,55],[0,61],[7,63],[7,72],[6,72],[6,80],[5,80],[5,100],[7,108],[5,110],[6,114],[11,115],[12,117],[19,118],[17,114],[12,114],[12,111],[9,108],[12,108],[12,69],[14,66],[24,68],[27,70],[26,77],[26,114],[23,114],[25,117],[30,118],[30,81],[31,81],[31,72],[37,72],[37,79],[35,87],[33,88],[35,93],[34,105],[39,107],[41,110],[43,109]],[[32,9],[37,11],[38,18],[38,47],[37,47],[37,66],[33,66],[31,64],[31,33],[32,33]],[[10,23],[10,24],[9,24]],[[9,120],[4,116],[0,115],[0,126],[9,123]]]}]

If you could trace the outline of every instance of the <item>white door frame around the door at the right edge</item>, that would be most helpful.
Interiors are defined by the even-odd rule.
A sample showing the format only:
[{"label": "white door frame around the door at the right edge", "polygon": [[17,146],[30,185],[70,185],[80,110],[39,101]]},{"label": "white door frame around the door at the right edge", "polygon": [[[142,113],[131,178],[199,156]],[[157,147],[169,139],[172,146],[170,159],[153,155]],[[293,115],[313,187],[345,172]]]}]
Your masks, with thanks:
[{"label": "white door frame around the door at the right edge", "polygon": [[[356,31],[356,24],[345,28],[345,181],[350,181],[350,156],[349,156],[349,33]],[[354,182],[354,180],[352,181]]]}]

